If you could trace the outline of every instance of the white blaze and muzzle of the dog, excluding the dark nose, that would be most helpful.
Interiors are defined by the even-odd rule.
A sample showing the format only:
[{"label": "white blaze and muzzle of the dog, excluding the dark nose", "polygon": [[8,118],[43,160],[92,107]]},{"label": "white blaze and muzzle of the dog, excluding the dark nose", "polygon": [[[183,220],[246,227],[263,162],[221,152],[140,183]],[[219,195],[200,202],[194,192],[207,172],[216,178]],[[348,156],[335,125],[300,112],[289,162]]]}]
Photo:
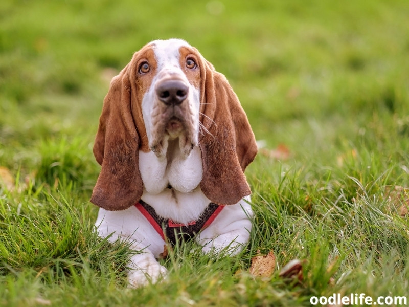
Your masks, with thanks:
[{"label": "white blaze and muzzle of the dog, excluding the dark nose", "polygon": [[[169,139],[179,138],[179,149],[182,156],[188,157],[193,146],[198,144],[199,134],[199,107],[200,90],[196,89],[187,78],[180,63],[180,47],[190,45],[180,39],[154,40],[151,42],[155,54],[156,71],[152,78],[149,90],[142,100],[142,114],[145,121],[149,147],[158,158],[164,158],[168,148]],[[176,80],[188,87],[187,98],[180,106],[165,105],[156,94],[157,86],[165,81]],[[169,120],[173,114],[183,123],[180,133],[166,133]]]}]

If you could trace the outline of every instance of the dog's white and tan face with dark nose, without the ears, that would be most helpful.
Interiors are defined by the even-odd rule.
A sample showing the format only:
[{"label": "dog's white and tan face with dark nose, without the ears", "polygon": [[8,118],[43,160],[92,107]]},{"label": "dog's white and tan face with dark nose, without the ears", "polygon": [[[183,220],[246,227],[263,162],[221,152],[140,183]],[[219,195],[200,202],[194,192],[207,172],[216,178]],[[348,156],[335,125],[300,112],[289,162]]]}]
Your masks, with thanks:
[{"label": "dog's white and tan face with dark nose, without the ears", "polygon": [[148,146],[158,158],[166,156],[169,140],[178,138],[185,158],[198,145],[198,62],[197,52],[181,40],[153,41],[137,60]]}]

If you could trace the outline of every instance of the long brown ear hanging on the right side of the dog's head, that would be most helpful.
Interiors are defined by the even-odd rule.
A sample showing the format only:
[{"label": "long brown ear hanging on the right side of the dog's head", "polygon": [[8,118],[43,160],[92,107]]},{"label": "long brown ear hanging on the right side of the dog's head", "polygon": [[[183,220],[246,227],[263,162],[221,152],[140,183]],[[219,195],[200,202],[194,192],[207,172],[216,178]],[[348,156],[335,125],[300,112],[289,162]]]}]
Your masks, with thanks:
[{"label": "long brown ear hanging on the right side of the dog's head", "polygon": [[[251,194],[244,170],[257,153],[256,139],[237,95],[226,78],[206,63],[200,135],[200,188],[212,202],[231,205]],[[203,78],[203,74],[201,76]],[[204,87],[204,88],[203,88]]]}]

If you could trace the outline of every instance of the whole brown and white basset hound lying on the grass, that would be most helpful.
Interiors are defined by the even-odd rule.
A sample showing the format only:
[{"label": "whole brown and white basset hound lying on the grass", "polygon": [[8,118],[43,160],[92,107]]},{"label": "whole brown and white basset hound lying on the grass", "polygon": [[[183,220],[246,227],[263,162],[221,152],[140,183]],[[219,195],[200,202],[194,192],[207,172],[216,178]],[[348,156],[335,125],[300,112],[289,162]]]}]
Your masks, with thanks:
[{"label": "whole brown and white basset hound lying on the grass", "polygon": [[91,202],[110,241],[129,240],[130,286],[156,282],[165,244],[194,237],[202,251],[237,254],[252,228],[244,169],[253,131],[226,78],[180,39],[155,40],[113,77],[94,155]]}]

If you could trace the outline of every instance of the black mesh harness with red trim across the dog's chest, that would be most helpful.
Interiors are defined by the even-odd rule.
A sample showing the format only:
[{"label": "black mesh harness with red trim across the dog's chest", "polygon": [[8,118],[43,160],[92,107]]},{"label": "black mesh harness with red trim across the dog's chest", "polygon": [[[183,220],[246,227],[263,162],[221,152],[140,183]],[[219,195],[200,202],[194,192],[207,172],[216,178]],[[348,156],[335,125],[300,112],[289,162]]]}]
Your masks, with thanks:
[{"label": "black mesh harness with red trim across the dog's chest", "polygon": [[187,225],[173,222],[156,214],[155,209],[140,200],[135,207],[145,216],[156,232],[165,240],[175,245],[180,238],[188,240],[200,230],[208,227],[224,206],[210,203],[196,221]]}]

